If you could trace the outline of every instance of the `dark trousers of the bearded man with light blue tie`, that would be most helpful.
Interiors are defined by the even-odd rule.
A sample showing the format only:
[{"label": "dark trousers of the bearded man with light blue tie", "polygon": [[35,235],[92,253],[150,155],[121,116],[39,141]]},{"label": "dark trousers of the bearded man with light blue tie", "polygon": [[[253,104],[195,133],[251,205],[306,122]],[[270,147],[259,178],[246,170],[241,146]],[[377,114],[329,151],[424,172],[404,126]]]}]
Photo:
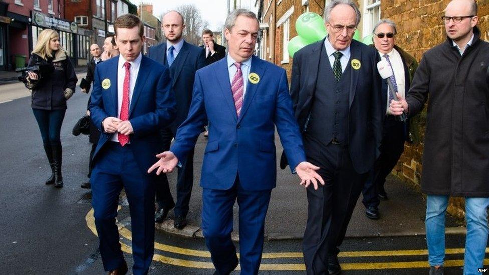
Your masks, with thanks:
[{"label": "dark trousers of the bearded man with light blue tie", "polygon": [[[163,150],[170,150],[171,140],[175,134],[169,129],[160,131],[163,139]],[[187,158],[179,160],[182,167],[178,168],[176,183],[176,204],[170,193],[170,185],[166,174],[161,174],[159,183],[156,184],[156,202],[160,208],[172,209],[175,207],[175,216],[186,216],[188,213],[188,204],[193,188],[193,155],[194,150],[188,153]]]}]

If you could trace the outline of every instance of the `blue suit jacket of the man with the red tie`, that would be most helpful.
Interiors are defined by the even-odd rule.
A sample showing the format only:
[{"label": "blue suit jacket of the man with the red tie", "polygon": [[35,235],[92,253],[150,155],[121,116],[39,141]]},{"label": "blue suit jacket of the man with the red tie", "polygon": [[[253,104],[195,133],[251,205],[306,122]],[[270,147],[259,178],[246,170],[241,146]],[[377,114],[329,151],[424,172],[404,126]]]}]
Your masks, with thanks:
[{"label": "blue suit jacket of the man with the red tie", "polygon": [[[117,113],[117,66],[119,56],[97,65],[95,68],[94,86],[89,105],[90,117],[101,130],[93,164],[103,153],[112,134],[103,131],[102,121],[107,117],[119,117]],[[124,77],[124,76],[121,76]],[[102,82],[110,80],[110,87],[104,89]],[[158,130],[167,127],[175,118],[175,99],[170,89],[171,79],[167,67],[142,56],[139,73],[136,79],[132,100],[129,107],[129,121],[134,133],[130,135],[131,148],[139,168],[146,171],[158,159],[163,146]]]}]

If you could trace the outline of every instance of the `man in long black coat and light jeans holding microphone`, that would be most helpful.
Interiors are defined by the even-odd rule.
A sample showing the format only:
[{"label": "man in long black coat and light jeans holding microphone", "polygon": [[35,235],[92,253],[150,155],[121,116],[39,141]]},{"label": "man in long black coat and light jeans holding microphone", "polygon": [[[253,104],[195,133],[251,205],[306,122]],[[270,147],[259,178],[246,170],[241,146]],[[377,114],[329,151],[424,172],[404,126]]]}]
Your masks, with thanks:
[{"label": "man in long black coat and light jeans holding microphone", "polygon": [[453,0],[442,17],[446,42],[423,54],[395,115],[420,112],[428,97],[421,189],[427,194],[430,274],[443,274],[445,213],[450,196],[465,198],[464,274],[478,274],[487,245],[489,206],[489,43],[481,40],[477,4]]}]

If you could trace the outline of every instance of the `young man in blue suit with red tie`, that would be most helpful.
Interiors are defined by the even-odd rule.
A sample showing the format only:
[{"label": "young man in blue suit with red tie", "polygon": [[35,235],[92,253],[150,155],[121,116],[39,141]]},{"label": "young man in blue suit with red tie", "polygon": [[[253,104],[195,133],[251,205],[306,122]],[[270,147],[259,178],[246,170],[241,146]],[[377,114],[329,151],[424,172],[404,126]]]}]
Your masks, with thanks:
[{"label": "young man in blue suit with red tie", "polygon": [[175,118],[169,70],[141,54],[143,24],[132,14],[117,18],[120,55],[95,69],[89,105],[101,135],[93,157],[92,205],[105,271],[125,274],[127,265],[115,223],[124,187],[131,213],[134,274],[147,274],[154,253],[157,176],[145,171],[163,148],[158,129]]}]

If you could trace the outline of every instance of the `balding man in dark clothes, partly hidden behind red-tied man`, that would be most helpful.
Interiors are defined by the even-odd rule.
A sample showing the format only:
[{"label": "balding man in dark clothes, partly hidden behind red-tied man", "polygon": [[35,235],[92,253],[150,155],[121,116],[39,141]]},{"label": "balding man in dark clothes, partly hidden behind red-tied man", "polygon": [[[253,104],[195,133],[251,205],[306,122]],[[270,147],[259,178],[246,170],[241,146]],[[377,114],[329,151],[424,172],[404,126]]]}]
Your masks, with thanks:
[{"label": "balding man in dark clothes, partly hidden behind red-tied man", "polygon": [[[93,73],[95,72],[95,66],[102,62],[101,55],[102,51],[97,44],[92,44],[90,46],[90,54],[93,56],[93,58],[90,60],[90,63],[87,66],[87,76],[85,77],[86,80],[86,86],[82,88],[82,92],[88,94],[90,91],[90,87],[92,86],[93,82]],[[81,86],[81,85],[80,85]],[[88,98],[88,104],[90,104],[90,97]],[[87,104],[87,115],[90,115],[90,111],[88,111],[88,104]],[[100,137],[100,132],[93,125],[92,120],[90,120],[90,134],[89,134],[89,141],[92,143],[92,150],[90,151],[90,159],[88,162],[88,175],[87,177],[90,178],[92,175],[92,157],[93,157],[93,152],[95,152],[95,148],[97,147],[97,141],[99,140]],[[83,182],[80,184],[80,187],[82,188],[87,188],[90,189],[90,181]]]}]

